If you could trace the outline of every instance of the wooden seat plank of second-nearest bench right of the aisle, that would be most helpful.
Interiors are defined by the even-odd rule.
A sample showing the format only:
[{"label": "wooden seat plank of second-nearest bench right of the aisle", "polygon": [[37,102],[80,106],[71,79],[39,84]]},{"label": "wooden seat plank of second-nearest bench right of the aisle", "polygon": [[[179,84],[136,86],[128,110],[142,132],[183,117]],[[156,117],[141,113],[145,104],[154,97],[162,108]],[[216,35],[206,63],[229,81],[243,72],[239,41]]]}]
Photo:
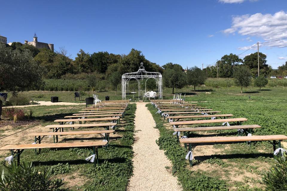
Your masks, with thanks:
[{"label": "wooden seat plank of second-nearest bench right of the aisle", "polygon": [[216,126],[216,127],[184,127],[174,128],[174,131],[210,131],[210,130],[230,130],[230,129],[254,129],[260,128],[260,125],[232,125],[232,126]]}]

